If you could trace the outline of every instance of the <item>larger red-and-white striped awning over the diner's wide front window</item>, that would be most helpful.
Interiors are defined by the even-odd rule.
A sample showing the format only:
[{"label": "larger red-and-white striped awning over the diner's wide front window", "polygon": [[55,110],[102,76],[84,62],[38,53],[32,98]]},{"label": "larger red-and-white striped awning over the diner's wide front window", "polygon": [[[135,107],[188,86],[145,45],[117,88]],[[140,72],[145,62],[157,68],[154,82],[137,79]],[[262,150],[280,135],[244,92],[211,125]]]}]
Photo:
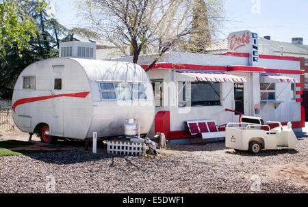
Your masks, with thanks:
[{"label": "larger red-and-white striped awning over the diner's wide front window", "polygon": [[246,79],[237,77],[232,74],[222,72],[203,72],[203,71],[188,71],[175,70],[176,81],[207,81],[207,82],[230,82],[230,83],[246,83]]}]

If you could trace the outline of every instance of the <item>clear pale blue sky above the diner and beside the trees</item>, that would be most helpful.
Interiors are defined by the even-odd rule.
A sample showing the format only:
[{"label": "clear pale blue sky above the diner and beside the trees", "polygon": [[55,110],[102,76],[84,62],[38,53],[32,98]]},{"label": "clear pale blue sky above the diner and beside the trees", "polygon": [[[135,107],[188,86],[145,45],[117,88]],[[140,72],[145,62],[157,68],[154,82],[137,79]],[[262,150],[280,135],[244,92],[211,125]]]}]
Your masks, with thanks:
[{"label": "clear pale blue sky above the diner and beside the trees", "polygon": [[[77,0],[51,0],[55,18],[68,28],[78,27]],[[225,22],[218,39],[227,38],[233,31],[251,30],[259,36],[271,36],[271,40],[291,42],[292,38],[304,38],[308,45],[307,0],[224,0]]]}]

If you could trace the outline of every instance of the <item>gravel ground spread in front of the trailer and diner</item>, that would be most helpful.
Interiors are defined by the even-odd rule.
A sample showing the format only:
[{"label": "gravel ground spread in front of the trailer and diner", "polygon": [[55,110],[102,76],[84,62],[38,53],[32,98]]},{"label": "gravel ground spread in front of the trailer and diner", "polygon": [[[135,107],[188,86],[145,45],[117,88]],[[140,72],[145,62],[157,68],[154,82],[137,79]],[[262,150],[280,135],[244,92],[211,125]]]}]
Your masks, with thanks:
[{"label": "gravel ground spread in front of the trailer and diner", "polygon": [[308,139],[257,156],[169,146],[158,156],[92,154],[81,148],[0,157],[0,193],[308,193]]}]

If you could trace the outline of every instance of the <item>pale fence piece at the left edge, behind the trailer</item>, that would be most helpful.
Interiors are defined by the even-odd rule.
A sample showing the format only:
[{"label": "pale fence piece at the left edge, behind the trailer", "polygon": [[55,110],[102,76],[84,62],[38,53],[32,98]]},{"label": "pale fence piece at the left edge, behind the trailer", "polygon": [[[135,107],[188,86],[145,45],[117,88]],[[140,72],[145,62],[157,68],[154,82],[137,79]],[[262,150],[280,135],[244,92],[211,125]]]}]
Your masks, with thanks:
[{"label": "pale fence piece at the left edge, behind the trailer", "polygon": [[0,130],[14,130],[10,100],[0,100]]}]

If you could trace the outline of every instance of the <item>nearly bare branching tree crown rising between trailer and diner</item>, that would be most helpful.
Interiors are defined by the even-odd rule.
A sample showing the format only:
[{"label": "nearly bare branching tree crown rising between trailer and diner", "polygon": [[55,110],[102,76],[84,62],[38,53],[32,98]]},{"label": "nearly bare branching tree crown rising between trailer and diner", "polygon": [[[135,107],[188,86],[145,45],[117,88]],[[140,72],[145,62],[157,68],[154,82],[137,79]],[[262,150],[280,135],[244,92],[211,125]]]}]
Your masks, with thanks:
[{"label": "nearly bare branching tree crown rising between trailer and diner", "polygon": [[[142,51],[155,49],[157,57],[146,68],[149,70],[173,46],[189,42],[192,31],[198,32],[192,26],[196,6],[206,7],[198,17],[208,19],[207,5],[222,5],[221,0],[207,0],[204,4],[194,1],[197,0],[87,0],[79,1],[78,10],[88,20],[86,29],[112,42],[125,55],[132,55],[134,63],[138,63]],[[212,12],[216,16],[220,14],[217,8]]]}]

